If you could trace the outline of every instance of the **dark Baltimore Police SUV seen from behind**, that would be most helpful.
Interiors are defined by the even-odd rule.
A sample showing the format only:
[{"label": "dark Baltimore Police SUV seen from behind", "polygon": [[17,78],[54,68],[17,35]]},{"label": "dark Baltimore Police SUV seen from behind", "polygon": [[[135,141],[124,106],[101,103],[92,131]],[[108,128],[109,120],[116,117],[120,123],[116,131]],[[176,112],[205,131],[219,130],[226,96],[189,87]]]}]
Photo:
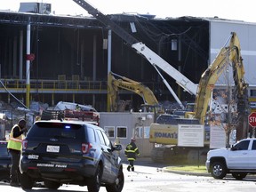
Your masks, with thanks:
[{"label": "dark Baltimore Police SUV seen from behind", "polygon": [[46,188],[61,184],[87,186],[89,192],[105,186],[108,192],[121,192],[124,173],[116,151],[99,126],[81,121],[38,121],[22,142],[20,184],[31,189],[44,181]]}]

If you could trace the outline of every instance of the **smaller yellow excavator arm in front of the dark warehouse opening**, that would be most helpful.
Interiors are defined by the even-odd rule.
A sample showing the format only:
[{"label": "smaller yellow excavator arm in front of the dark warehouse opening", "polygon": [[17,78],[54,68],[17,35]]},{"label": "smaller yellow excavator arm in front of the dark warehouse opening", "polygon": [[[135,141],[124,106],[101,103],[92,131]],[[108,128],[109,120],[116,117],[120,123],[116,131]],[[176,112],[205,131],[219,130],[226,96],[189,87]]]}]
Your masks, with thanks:
[{"label": "smaller yellow excavator arm in front of the dark warehouse opening", "polygon": [[[119,77],[116,79],[116,77]],[[158,100],[154,93],[148,88],[148,86],[141,84],[140,82],[133,81],[125,76],[119,76],[113,72],[108,73],[108,100],[110,103],[110,111],[118,111],[118,90],[124,89],[130,92],[139,94],[144,101],[143,106],[159,106]]]}]

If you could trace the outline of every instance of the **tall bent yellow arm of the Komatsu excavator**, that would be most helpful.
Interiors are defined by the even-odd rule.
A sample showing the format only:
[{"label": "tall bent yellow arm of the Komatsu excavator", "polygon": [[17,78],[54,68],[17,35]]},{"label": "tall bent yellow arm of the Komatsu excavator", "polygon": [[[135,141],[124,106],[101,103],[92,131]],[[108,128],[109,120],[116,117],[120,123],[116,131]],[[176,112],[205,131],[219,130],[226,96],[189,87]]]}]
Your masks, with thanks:
[{"label": "tall bent yellow arm of the Komatsu excavator", "polygon": [[201,124],[204,124],[209,101],[212,98],[212,89],[228,65],[231,65],[233,68],[238,103],[245,104],[248,98],[247,84],[244,82],[244,64],[240,52],[240,42],[235,32],[231,33],[229,45],[221,48],[215,60],[204,71],[198,84],[194,116],[200,120]]}]

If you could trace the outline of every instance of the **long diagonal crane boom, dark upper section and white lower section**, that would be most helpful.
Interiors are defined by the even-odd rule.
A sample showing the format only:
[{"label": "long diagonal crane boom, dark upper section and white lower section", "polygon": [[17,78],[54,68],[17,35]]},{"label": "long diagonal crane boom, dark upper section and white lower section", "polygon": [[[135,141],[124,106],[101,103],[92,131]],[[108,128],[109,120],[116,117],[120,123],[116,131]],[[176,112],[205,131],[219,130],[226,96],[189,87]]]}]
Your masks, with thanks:
[{"label": "long diagonal crane boom, dark upper section and white lower section", "polygon": [[84,10],[91,14],[94,18],[99,20],[103,25],[110,28],[120,36],[127,44],[130,44],[133,49],[142,54],[151,65],[161,68],[168,76],[171,76],[177,84],[179,84],[184,90],[190,94],[196,95],[197,84],[191,82],[186,76],[182,75],[179,70],[173,68],[167,61],[162,59],[156,52],[153,52],[148,48],[146,44],[141,43],[135,37],[130,35],[124,28],[119,27],[115,22],[110,20],[102,12],[94,8],[91,4],[88,4],[84,0],[73,0],[76,4],[80,5]]}]

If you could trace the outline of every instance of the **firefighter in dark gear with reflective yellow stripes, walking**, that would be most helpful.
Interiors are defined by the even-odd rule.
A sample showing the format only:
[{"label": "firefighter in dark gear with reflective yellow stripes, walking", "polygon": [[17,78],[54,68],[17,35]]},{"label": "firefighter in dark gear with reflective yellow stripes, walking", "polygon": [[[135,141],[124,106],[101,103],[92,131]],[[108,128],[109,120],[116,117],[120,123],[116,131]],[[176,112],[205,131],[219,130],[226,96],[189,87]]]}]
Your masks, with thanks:
[{"label": "firefighter in dark gear with reflective yellow stripes, walking", "polygon": [[124,155],[127,156],[127,160],[129,161],[129,165],[127,167],[128,172],[130,172],[131,168],[132,172],[134,172],[134,161],[136,160],[136,156],[140,156],[139,148],[137,148],[135,141],[136,140],[132,138],[131,142],[124,150]]}]

